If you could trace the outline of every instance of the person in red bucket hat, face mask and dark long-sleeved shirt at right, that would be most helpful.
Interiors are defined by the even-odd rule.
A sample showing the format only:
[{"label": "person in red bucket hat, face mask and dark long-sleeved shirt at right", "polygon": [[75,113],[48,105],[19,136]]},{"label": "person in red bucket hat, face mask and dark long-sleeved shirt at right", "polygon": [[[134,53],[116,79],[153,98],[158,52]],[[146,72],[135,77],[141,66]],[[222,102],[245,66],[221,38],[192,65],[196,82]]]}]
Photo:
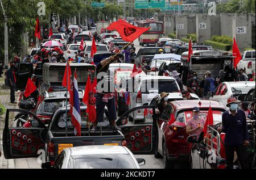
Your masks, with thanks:
[{"label": "person in red bucket hat, face mask and dark long-sleeved shirt at right", "polygon": [[222,132],[226,133],[224,144],[227,169],[233,169],[235,150],[242,169],[247,169],[245,146],[249,145],[249,133],[245,112],[238,109],[238,103],[240,101],[235,97],[229,98],[226,104],[229,111],[222,114]]}]

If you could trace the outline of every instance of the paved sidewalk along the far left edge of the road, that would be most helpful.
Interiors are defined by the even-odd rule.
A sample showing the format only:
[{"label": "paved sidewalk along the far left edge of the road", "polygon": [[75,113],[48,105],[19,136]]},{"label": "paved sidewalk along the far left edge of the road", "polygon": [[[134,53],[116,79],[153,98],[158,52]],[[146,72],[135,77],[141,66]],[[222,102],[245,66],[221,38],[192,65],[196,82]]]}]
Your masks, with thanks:
[{"label": "paved sidewalk along the far left edge of the road", "polygon": [[[2,89],[4,84],[4,78],[0,78],[0,103],[5,106],[5,108],[18,108],[17,104],[10,103],[10,90]],[[18,93],[15,94],[16,97]],[[3,147],[2,147],[2,136],[3,136],[3,128],[5,126],[5,114],[0,116],[0,150],[2,152],[2,156],[0,157],[0,169],[13,169],[15,168],[14,160],[6,160],[3,155]]]}]

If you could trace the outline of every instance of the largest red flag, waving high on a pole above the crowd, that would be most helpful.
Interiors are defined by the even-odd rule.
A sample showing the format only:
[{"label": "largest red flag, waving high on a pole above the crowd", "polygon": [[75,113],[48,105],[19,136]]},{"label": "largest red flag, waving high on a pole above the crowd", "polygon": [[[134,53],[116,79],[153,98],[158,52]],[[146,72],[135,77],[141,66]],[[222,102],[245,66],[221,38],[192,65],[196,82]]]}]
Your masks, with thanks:
[{"label": "largest red flag, waving high on a pole above the crowd", "polygon": [[110,24],[107,29],[109,31],[116,30],[123,40],[127,42],[133,42],[150,28],[136,27],[127,23],[124,20],[119,19],[118,21]]}]

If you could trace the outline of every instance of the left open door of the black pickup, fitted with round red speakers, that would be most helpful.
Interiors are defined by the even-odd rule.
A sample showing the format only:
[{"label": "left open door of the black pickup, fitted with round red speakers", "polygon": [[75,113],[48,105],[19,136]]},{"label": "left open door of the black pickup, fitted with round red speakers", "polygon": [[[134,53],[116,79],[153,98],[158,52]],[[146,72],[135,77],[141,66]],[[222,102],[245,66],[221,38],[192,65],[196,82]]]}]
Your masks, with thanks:
[{"label": "left open door of the black pickup, fitted with round red speakers", "polygon": [[[12,117],[17,113],[28,114],[33,127],[16,128]],[[45,138],[46,126],[35,114],[27,110],[6,111],[3,129],[3,152],[6,159],[37,157],[38,151],[44,149]]]}]

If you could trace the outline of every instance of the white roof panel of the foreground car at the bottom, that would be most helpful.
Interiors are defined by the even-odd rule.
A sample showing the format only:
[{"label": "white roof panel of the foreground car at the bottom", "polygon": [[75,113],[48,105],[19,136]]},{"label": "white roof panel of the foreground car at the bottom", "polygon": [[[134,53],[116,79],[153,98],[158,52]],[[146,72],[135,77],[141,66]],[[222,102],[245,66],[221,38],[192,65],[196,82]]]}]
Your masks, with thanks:
[{"label": "white roof panel of the foreground car at the bottom", "polygon": [[129,154],[123,146],[88,145],[69,148],[71,156],[90,154]]}]

